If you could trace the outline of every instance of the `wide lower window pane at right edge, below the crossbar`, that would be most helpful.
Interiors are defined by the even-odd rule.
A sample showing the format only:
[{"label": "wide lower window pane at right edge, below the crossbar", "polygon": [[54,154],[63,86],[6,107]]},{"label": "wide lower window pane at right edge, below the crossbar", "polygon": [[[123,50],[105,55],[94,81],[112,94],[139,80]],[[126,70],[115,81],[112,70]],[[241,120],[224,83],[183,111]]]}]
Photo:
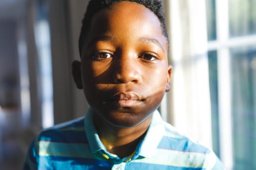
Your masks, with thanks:
[{"label": "wide lower window pane at right edge, below the crossbar", "polygon": [[256,46],[230,54],[235,170],[256,170]]}]

